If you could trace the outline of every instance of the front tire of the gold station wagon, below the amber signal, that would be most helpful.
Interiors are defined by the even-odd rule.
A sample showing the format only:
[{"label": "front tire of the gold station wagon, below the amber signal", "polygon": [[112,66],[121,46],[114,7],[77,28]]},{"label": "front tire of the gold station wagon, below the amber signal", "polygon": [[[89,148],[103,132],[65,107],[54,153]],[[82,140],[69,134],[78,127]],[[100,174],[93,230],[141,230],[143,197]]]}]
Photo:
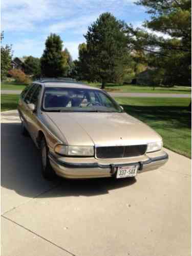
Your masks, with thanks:
[{"label": "front tire of the gold station wagon, below the amber signal", "polygon": [[42,174],[42,176],[47,180],[54,180],[56,177],[56,174],[53,171],[50,161],[49,161],[49,157],[48,157],[49,148],[47,146],[45,138],[41,139],[40,153],[41,153],[41,174]]}]

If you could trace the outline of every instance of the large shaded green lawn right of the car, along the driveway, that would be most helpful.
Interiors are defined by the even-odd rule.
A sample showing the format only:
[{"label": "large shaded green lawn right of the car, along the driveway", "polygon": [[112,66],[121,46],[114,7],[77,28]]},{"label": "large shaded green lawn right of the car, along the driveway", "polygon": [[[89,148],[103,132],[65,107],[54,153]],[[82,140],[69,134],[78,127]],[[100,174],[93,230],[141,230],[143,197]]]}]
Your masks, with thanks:
[{"label": "large shaded green lawn right of the car, along the driveway", "polygon": [[191,113],[184,98],[116,98],[124,110],[158,132],[164,147],[191,158]]}]

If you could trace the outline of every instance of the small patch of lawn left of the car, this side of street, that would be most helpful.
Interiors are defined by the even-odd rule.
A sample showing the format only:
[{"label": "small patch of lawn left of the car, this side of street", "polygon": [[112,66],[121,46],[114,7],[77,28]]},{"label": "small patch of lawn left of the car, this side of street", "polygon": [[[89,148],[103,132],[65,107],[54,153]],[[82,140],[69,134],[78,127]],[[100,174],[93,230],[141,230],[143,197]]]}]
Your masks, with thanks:
[{"label": "small patch of lawn left of the car, this side of street", "polygon": [[1,95],[1,112],[17,108],[19,95],[3,94]]}]

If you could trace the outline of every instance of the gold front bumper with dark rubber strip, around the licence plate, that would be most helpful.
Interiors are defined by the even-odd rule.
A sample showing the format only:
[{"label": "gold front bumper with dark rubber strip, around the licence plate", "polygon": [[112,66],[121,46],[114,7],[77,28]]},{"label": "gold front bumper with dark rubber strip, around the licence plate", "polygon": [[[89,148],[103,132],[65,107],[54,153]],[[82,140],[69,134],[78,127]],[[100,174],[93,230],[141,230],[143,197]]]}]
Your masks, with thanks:
[{"label": "gold front bumper with dark rubber strip, around the licence plate", "polygon": [[[71,179],[113,177],[117,167],[138,164],[138,173],[156,170],[168,160],[164,151],[122,159],[70,158],[49,153],[52,168],[58,176]],[[86,160],[86,161],[85,161]]]}]

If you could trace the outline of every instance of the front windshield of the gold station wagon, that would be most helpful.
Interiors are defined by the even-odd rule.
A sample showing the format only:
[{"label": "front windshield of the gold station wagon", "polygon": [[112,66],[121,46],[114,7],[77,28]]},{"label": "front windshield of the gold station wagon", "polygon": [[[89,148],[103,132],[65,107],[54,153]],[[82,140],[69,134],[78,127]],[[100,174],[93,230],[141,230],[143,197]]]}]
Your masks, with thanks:
[{"label": "front windshield of the gold station wagon", "polygon": [[48,112],[122,112],[108,94],[84,88],[48,87],[42,108]]}]

